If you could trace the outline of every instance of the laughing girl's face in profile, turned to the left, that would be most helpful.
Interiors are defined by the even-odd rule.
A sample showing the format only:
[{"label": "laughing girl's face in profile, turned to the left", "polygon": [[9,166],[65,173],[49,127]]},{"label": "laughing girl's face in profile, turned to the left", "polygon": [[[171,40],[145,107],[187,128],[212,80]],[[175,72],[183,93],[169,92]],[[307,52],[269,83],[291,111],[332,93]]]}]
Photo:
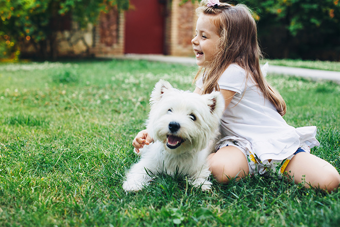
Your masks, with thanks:
[{"label": "laughing girl's face in profile, turned to the left", "polygon": [[212,23],[211,16],[202,14],[198,17],[196,35],[191,40],[198,66],[209,67],[217,51],[219,38],[217,27]]}]

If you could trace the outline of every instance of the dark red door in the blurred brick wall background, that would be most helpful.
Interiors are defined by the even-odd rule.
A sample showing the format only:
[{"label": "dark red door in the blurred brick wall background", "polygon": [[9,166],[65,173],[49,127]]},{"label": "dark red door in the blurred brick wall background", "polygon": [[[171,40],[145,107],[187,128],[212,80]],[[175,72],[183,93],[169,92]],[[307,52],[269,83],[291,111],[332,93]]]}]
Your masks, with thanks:
[{"label": "dark red door in the blurred brick wall background", "polygon": [[125,53],[164,53],[164,0],[130,0],[125,13]]}]

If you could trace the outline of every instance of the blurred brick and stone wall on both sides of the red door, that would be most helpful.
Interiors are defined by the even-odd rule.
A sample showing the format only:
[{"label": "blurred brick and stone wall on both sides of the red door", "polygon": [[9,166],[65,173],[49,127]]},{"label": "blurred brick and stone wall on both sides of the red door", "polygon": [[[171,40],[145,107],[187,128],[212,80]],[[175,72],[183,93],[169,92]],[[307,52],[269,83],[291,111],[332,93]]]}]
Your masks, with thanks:
[{"label": "blurred brick and stone wall on both sides of the red door", "polygon": [[[191,39],[195,33],[197,3],[188,1],[180,5],[180,1],[167,0],[165,54],[193,56]],[[73,21],[70,21],[70,25],[70,30],[57,32],[57,56],[103,57],[124,54],[124,13],[119,14],[117,9],[102,13],[97,25],[89,24],[85,29],[79,28]],[[23,45],[23,52],[35,54],[29,43]]]}]

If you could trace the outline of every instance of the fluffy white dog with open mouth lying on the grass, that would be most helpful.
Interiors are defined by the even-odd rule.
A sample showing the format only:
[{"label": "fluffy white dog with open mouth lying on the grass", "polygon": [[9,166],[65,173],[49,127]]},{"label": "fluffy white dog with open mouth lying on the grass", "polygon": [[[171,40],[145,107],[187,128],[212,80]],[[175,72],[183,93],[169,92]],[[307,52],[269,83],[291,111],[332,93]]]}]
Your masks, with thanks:
[{"label": "fluffy white dog with open mouth lying on the grass", "polygon": [[159,173],[187,176],[190,184],[210,190],[208,146],[218,134],[224,110],[220,92],[199,95],[178,90],[163,80],[154,87],[147,131],[154,139],[140,150],[123,183],[125,191],[138,191]]}]

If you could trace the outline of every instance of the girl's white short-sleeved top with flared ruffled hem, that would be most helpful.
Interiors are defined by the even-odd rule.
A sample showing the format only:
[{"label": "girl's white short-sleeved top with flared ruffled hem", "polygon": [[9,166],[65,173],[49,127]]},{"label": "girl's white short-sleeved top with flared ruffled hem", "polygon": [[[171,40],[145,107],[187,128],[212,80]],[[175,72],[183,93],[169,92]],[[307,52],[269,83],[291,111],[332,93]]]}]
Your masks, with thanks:
[{"label": "girl's white short-sleeved top with flared ruffled hem", "polygon": [[[316,126],[294,128],[288,125],[253,80],[246,81],[245,70],[237,64],[223,72],[218,84],[220,89],[236,92],[221,119],[222,140],[237,140],[261,161],[283,160],[303,143],[310,148],[320,145],[315,139]],[[203,78],[196,86],[203,88]]]}]

